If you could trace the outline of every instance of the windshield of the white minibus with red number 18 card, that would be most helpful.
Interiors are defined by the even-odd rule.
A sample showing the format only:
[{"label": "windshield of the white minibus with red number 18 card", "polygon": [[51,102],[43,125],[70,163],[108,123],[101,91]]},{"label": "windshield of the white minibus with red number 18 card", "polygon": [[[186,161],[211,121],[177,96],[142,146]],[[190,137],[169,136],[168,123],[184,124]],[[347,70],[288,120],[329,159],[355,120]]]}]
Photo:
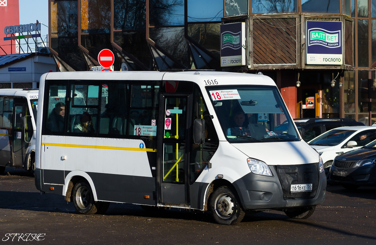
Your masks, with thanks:
[{"label": "windshield of the white minibus with red number 18 card", "polygon": [[[298,141],[276,87],[206,87],[227,140],[232,143]],[[283,125],[283,126],[280,126]]]}]

